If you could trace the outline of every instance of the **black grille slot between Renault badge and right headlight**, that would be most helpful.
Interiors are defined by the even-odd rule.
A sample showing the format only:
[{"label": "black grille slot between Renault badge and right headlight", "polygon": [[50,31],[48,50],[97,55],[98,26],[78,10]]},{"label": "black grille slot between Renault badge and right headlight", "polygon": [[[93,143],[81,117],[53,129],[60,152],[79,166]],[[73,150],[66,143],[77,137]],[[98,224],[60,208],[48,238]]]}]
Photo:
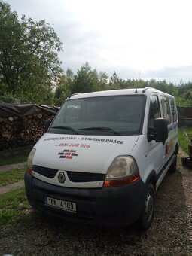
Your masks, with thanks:
[{"label": "black grille slot between Renault badge and right headlight", "polygon": [[89,172],[67,172],[68,178],[72,182],[93,182],[104,181],[105,174]]}]

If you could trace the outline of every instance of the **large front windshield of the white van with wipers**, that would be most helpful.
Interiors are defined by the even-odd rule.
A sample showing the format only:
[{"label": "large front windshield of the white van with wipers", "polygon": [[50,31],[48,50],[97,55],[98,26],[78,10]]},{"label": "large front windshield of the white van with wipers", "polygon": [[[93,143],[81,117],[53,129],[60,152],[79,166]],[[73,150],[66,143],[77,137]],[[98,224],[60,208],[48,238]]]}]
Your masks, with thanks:
[{"label": "large front windshield of the white van with wipers", "polygon": [[133,135],[142,133],[145,96],[100,96],[66,100],[48,133]]}]

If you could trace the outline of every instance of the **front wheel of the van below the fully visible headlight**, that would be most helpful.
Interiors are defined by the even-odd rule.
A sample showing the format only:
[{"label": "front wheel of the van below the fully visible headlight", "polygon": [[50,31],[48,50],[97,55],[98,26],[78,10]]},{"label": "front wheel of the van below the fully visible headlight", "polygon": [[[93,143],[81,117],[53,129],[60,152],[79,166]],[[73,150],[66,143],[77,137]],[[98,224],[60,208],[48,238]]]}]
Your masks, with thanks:
[{"label": "front wheel of the van below the fully visible headlight", "polygon": [[145,205],[142,209],[142,215],[139,218],[139,229],[148,230],[154,219],[155,191],[153,184],[148,184],[147,193],[145,194]]}]

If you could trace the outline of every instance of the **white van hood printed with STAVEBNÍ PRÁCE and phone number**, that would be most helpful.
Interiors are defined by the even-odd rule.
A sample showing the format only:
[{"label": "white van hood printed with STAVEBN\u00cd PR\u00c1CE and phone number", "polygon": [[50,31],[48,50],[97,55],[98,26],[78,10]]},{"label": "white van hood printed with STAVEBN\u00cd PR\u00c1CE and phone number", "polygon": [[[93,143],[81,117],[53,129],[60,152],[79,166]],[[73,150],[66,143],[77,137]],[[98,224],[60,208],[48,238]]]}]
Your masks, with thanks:
[{"label": "white van hood printed with STAVEBN\u00cd PR\u00c1CE and phone number", "polygon": [[52,169],[106,173],[112,160],[129,155],[139,136],[82,136],[45,133],[38,141],[33,165]]}]

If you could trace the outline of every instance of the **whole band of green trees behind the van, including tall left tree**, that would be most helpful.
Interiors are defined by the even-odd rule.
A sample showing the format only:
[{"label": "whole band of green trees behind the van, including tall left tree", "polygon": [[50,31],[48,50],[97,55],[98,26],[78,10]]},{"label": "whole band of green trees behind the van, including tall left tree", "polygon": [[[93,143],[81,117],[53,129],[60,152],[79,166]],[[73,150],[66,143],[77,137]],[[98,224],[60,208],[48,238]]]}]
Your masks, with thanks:
[{"label": "whole band of green trees behind the van, including tall left tree", "polygon": [[62,42],[45,20],[34,21],[0,0],[0,102],[62,105],[72,93],[154,87],[175,96],[177,105],[192,106],[192,82],[121,79],[97,72],[88,62],[73,74],[64,73],[58,52]]}]

